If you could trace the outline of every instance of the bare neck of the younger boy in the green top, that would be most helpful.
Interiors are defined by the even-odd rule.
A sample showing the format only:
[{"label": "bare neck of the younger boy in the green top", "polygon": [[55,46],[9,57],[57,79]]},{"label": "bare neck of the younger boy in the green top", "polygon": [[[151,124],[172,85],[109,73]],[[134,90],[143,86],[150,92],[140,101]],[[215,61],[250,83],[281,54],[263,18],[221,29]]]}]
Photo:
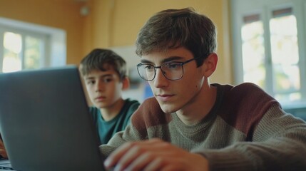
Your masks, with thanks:
[{"label": "bare neck of the younger boy in the green top", "polygon": [[120,112],[123,105],[124,105],[124,100],[120,98],[115,103],[113,103],[113,105],[110,105],[107,108],[100,108],[103,119],[105,121],[109,121],[115,118],[116,115],[118,115],[118,113]]}]

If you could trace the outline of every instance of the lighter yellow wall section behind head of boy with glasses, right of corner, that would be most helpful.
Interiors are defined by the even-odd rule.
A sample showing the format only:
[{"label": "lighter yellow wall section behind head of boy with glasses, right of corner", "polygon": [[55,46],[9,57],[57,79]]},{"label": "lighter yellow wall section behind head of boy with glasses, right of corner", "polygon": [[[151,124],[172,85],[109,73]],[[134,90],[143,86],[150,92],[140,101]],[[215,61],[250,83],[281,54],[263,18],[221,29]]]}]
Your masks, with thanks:
[{"label": "lighter yellow wall section behind head of boy with glasses, right of corner", "polygon": [[[180,9],[193,6],[208,15],[218,27],[218,69],[212,82],[232,83],[229,6],[227,0],[93,0],[91,14],[92,47],[130,46],[135,43],[137,33],[146,20],[163,9]],[[90,48],[85,49],[90,51]]]}]

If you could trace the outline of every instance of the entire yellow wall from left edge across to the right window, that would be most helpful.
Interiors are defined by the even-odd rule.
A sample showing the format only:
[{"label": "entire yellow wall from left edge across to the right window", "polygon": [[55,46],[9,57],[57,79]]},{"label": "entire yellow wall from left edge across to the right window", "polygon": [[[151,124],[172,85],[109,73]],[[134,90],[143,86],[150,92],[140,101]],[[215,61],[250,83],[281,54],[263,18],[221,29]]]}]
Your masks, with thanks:
[{"label": "entire yellow wall from left edge across to the right window", "polygon": [[[90,12],[81,16],[82,6]],[[78,64],[92,48],[133,46],[146,20],[163,9],[193,6],[218,27],[218,69],[212,82],[232,83],[228,0],[0,0],[0,16],[62,28],[67,63]]]}]

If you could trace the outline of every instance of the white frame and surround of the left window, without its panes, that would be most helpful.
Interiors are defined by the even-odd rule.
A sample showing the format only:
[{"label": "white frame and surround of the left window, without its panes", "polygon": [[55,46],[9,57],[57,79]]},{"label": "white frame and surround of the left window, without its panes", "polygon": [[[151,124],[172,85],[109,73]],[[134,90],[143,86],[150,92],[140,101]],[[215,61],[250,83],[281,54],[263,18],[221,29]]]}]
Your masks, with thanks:
[{"label": "white frame and surround of the left window, without its panes", "polygon": [[[44,58],[41,61],[41,68],[65,66],[66,65],[66,31],[39,24],[26,23],[0,17],[0,69],[3,61],[3,40],[4,32],[11,31],[22,36],[29,35],[44,40]],[[21,53],[24,53],[24,48]],[[2,71],[2,70],[0,70]]]}]

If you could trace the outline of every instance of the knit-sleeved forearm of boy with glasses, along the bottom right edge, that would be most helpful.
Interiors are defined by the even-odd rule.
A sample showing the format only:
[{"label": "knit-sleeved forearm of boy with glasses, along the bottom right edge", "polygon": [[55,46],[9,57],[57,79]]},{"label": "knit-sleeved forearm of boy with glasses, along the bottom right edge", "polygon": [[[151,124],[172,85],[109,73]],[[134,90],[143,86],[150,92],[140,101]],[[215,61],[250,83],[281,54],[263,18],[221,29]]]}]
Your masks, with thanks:
[{"label": "knit-sleeved forearm of boy with glasses, along the bottom right edge", "polygon": [[196,152],[207,158],[210,171],[306,170],[305,144],[293,140],[238,142],[221,150]]}]

